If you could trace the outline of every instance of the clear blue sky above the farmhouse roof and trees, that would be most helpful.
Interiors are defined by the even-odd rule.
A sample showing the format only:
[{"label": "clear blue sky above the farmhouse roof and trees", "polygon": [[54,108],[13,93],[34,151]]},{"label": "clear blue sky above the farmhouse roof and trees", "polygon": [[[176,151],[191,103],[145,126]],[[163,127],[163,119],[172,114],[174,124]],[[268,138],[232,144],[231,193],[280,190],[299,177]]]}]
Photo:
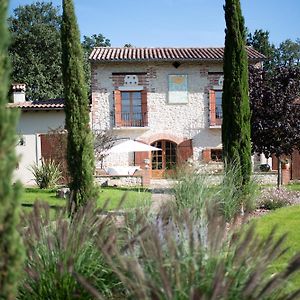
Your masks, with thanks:
[{"label": "clear blue sky above the farmhouse roof and trees", "polygon": [[[10,1],[10,13],[32,0]],[[53,0],[54,5],[61,4]],[[224,44],[224,0],[75,0],[82,35],[102,33],[112,46],[205,47]],[[245,24],[270,40],[300,38],[299,0],[241,0]]]}]

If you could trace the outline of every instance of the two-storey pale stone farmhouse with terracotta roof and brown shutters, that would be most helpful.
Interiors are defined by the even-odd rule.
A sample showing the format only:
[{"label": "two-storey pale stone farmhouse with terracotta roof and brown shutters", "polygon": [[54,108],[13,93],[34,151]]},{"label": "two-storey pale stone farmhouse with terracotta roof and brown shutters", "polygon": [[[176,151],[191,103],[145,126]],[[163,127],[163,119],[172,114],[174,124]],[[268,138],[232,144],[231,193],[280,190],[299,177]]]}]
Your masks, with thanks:
[{"label": "two-storey pale stone farmhouse with terracotta roof and brown shutters", "polygon": [[[247,48],[249,62],[264,56]],[[91,124],[161,148],[109,155],[161,178],[187,160],[221,160],[224,48],[95,48]]]}]

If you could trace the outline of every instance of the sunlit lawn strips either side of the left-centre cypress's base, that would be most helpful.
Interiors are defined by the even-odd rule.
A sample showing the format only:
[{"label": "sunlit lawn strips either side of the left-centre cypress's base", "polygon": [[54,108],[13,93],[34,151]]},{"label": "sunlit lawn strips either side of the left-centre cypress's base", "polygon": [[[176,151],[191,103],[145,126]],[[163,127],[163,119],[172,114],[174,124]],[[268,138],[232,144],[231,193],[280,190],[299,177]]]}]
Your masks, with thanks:
[{"label": "sunlit lawn strips either side of the left-centre cypress's base", "polygon": [[[64,207],[66,201],[56,198],[55,190],[26,188],[21,197],[23,206],[32,206],[36,200],[47,202],[50,207]],[[118,207],[120,199],[125,195],[122,209],[130,209],[151,204],[151,193],[143,188],[101,188],[97,199],[97,206],[103,207],[105,201],[109,199],[107,210],[114,210]]]}]

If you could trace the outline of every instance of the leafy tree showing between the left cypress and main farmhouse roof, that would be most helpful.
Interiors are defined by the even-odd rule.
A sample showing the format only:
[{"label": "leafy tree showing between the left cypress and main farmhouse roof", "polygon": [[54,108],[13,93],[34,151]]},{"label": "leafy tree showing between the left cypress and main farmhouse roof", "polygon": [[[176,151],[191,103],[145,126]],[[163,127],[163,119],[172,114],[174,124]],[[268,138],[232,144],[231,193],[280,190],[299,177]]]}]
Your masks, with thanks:
[{"label": "leafy tree showing between the left cypress and main farmhouse roof", "polygon": [[92,36],[83,36],[81,43],[84,54],[84,73],[85,80],[89,87],[91,87],[91,64],[89,62],[89,56],[95,47],[110,47],[110,40],[104,37],[102,34],[93,34]]}]

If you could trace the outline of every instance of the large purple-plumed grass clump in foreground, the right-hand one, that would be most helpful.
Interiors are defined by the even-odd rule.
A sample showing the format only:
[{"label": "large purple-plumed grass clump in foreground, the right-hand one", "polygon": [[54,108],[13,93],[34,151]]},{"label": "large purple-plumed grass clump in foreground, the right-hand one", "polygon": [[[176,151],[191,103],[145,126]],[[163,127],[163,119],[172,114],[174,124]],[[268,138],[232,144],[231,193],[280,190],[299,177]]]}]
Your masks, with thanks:
[{"label": "large purple-plumed grass clump in foreground, the right-hand one", "polygon": [[[121,244],[113,238],[105,247],[98,244],[129,291],[123,299],[296,298],[282,287],[299,270],[299,255],[282,272],[268,272],[285,253],[284,237],[275,238],[273,231],[262,239],[253,227],[226,237],[218,209],[208,205],[207,212],[204,227],[187,210],[178,214],[166,208],[155,218],[137,215],[128,230],[119,232]],[[80,282],[103,299],[101,290]]]}]

